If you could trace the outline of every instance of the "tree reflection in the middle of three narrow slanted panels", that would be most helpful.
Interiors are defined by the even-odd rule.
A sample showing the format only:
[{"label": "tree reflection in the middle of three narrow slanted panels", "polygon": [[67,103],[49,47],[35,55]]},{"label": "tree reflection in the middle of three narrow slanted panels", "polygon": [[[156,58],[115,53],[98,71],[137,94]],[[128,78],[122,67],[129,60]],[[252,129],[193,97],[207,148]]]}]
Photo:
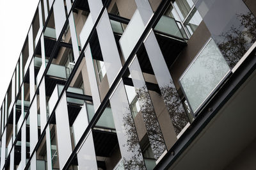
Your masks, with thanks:
[{"label": "tree reflection in the middle of three narrow slanted panels", "polygon": [[157,120],[156,112],[152,105],[146,85],[142,88],[135,88],[140,104],[140,111],[143,116],[145,127],[147,128],[147,135],[150,146],[154,153],[154,158],[157,160],[166,150],[163,135]]}]

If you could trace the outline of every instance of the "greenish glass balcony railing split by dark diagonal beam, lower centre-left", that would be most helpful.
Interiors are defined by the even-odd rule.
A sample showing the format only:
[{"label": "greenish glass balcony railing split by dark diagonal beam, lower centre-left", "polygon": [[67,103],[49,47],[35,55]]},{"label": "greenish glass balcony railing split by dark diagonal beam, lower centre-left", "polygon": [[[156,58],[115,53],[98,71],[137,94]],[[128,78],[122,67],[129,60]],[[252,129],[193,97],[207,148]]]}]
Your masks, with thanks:
[{"label": "greenish glass balcony railing split by dark diagonal beam, lower centre-left", "polygon": [[[89,121],[92,120],[95,111],[92,104],[86,104],[87,113]],[[99,120],[97,121],[95,127],[102,127],[102,128],[110,128],[115,129],[115,124],[113,121],[113,115],[110,107],[106,107],[102,115],[100,116]]]}]

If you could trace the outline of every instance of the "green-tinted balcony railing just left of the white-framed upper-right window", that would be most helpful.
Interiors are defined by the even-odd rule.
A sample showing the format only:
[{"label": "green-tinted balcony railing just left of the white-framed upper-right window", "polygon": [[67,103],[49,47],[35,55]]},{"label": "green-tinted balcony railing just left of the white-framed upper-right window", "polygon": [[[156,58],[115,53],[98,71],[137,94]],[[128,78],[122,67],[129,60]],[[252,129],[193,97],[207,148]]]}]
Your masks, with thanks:
[{"label": "green-tinted balcony railing just left of the white-framed upper-right window", "polygon": [[160,33],[164,33],[166,35],[175,36],[177,38],[183,39],[182,33],[177,25],[177,22],[172,17],[168,17],[163,15],[161,19],[157,22],[155,31],[159,31]]}]

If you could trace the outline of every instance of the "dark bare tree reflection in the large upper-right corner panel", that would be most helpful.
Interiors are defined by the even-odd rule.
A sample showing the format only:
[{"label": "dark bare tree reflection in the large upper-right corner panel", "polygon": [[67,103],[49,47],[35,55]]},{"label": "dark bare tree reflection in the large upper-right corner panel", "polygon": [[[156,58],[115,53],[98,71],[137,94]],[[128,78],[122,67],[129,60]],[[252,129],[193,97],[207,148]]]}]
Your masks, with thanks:
[{"label": "dark bare tree reflection in the large upper-right corner panel", "polygon": [[237,15],[241,22],[239,27],[232,26],[226,33],[220,35],[225,38],[218,46],[230,68],[233,68],[245,52],[256,41],[256,18],[252,13]]}]

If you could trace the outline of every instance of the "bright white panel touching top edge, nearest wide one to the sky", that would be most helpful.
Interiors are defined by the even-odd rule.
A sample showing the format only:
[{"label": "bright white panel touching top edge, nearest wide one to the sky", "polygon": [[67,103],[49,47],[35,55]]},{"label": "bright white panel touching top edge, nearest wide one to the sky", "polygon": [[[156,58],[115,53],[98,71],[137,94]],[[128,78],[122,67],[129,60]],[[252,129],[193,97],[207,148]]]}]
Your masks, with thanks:
[{"label": "bright white panel touching top edge, nearest wide one to the sky", "polygon": [[54,22],[56,28],[56,39],[60,36],[61,29],[66,21],[65,7],[63,0],[55,0],[53,4]]}]

